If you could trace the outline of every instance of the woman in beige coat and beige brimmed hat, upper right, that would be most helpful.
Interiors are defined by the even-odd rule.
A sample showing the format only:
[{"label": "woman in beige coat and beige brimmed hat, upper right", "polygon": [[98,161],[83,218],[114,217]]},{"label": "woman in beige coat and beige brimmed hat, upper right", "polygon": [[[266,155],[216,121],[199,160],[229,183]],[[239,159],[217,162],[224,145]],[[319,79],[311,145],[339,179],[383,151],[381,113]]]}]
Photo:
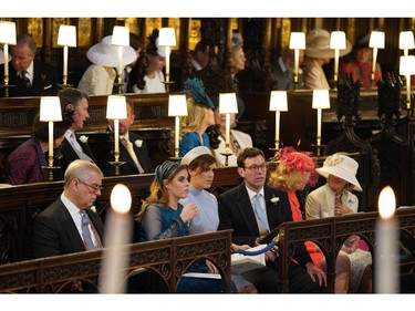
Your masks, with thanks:
[{"label": "woman in beige coat and beige brimmed hat, upper right", "polygon": [[[346,41],[346,49],[340,50],[340,56],[352,51],[352,44]],[[304,86],[309,90],[330,90],[323,65],[334,59],[334,50],[330,49],[330,33],[324,29],[313,29],[305,37],[304,51]]]}]

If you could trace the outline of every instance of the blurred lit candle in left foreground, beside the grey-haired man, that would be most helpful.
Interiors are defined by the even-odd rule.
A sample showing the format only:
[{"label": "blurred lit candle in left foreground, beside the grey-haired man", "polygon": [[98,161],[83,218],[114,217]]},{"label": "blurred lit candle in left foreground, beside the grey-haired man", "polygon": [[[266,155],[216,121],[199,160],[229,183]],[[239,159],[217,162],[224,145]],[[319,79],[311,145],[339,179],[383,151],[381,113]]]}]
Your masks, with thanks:
[{"label": "blurred lit candle in left foreground, beside the grey-haired man", "polygon": [[132,197],[125,185],[117,184],[111,193],[100,277],[101,293],[125,292],[125,267],[132,238],[133,218],[129,216]]}]

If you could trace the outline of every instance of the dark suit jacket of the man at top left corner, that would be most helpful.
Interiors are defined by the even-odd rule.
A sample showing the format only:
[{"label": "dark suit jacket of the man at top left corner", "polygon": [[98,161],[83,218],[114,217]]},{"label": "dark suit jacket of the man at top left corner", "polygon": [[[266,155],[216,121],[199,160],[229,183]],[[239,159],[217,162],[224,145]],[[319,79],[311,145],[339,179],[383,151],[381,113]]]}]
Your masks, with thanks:
[{"label": "dark suit jacket of the man at top left corner", "polygon": [[[0,69],[1,84],[4,84],[4,65]],[[10,97],[22,96],[55,96],[59,91],[58,71],[50,64],[33,60],[33,81],[30,89],[25,89],[14,68],[9,66]],[[4,91],[2,91],[4,92]]]}]

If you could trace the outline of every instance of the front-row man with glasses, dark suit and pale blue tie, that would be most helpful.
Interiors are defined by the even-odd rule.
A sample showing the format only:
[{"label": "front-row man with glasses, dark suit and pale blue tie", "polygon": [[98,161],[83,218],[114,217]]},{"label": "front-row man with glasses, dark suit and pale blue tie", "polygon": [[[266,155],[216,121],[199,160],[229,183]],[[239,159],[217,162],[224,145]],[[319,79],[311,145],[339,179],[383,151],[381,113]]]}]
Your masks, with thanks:
[{"label": "front-row man with glasses, dark suit and pale blue tie", "polygon": [[[237,245],[258,246],[258,238],[286,221],[292,221],[291,207],[284,191],[268,187],[267,164],[262,151],[242,149],[237,159],[241,185],[218,196],[219,230],[234,229],[232,241]],[[277,199],[278,198],[278,199]],[[266,252],[267,267],[242,273],[258,292],[278,291],[278,253]],[[324,292],[324,272],[314,266],[304,245],[295,249],[289,268],[290,292]]]}]

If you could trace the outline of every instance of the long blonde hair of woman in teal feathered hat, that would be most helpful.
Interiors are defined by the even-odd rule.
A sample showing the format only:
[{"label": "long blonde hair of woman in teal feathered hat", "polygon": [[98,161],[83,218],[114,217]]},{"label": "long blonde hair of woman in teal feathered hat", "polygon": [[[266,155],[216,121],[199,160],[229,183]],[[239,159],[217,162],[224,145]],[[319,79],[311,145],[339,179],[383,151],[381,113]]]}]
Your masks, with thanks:
[{"label": "long blonde hair of woman in teal feathered hat", "polygon": [[193,97],[187,97],[187,116],[180,116],[180,138],[187,133],[198,131],[207,116],[209,107],[198,104]]}]

